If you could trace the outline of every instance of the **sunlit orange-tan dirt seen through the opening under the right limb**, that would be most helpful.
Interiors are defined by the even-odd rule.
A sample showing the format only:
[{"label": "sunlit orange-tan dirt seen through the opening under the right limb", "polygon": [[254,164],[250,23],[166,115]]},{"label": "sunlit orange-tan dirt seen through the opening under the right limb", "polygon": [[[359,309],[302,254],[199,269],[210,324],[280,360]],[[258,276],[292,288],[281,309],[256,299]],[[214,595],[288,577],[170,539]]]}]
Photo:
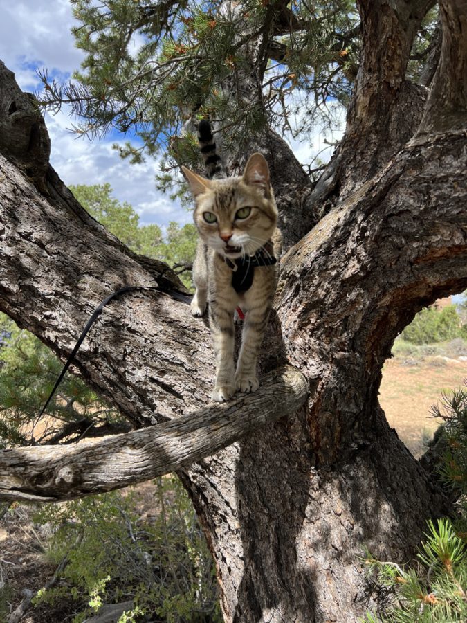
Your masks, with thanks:
[{"label": "sunlit orange-tan dirt seen through the opening under the right limb", "polygon": [[387,421],[416,456],[422,449],[422,437],[434,433],[439,420],[430,413],[439,404],[442,392],[464,386],[467,361],[430,357],[423,361],[390,359],[383,368],[380,404]]}]

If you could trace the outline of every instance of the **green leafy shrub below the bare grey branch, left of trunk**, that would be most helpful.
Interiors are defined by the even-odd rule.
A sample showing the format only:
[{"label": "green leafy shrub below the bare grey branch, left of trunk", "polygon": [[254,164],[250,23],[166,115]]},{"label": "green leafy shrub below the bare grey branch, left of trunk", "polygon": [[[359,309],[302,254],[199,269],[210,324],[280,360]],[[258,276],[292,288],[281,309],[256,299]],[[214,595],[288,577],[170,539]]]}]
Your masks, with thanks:
[{"label": "green leafy shrub below the bare grey branch, left of trunk", "polygon": [[54,530],[48,558],[66,559],[59,586],[35,603],[73,595],[80,614],[102,603],[133,601],[120,621],[157,615],[172,623],[221,622],[212,559],[190,499],[176,476],[157,481],[152,521],[138,512],[135,493],[112,493],[64,505],[44,505],[35,521]]}]

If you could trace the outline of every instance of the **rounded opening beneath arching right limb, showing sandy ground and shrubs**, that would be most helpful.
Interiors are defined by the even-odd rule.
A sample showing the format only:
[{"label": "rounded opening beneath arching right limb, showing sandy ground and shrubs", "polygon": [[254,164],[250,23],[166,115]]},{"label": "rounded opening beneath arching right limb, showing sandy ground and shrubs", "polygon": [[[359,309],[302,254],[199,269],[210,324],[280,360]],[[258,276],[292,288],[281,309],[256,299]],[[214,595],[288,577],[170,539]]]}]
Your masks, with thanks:
[{"label": "rounded opening beneath arching right limb, showing sandy ground and shrubs", "polygon": [[466,378],[467,298],[441,298],[405,327],[383,368],[381,406],[416,458],[441,423],[431,406],[443,392],[463,386]]}]

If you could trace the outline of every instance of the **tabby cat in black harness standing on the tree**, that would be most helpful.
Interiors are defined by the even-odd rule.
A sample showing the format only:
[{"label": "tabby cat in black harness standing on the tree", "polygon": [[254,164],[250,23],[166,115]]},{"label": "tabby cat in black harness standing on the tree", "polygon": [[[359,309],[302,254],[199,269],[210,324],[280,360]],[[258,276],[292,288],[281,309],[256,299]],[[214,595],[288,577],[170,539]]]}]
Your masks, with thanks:
[{"label": "tabby cat in black harness standing on the tree", "polygon": [[[264,156],[253,154],[243,175],[226,178],[208,121],[199,124],[199,143],[211,179],[182,167],[199,232],[191,312],[202,316],[209,303],[216,362],[212,399],[223,402],[236,391],[259,387],[257,359],[277,284],[280,231]],[[235,370],[236,309],[244,326]]]}]

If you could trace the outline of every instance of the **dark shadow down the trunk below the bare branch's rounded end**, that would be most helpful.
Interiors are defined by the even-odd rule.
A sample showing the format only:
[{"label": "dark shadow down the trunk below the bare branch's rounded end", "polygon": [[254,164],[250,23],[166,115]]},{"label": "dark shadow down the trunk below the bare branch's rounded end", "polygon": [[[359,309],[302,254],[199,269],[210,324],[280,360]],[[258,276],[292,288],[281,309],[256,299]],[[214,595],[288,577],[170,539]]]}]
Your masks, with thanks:
[{"label": "dark shadow down the trunk below the bare branch's rounded end", "polygon": [[306,409],[241,442],[235,487],[245,559],[235,622],[262,620],[272,608],[313,620],[315,578],[296,556],[313,464]]}]

